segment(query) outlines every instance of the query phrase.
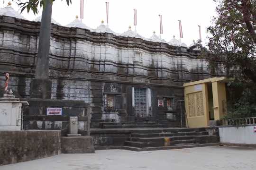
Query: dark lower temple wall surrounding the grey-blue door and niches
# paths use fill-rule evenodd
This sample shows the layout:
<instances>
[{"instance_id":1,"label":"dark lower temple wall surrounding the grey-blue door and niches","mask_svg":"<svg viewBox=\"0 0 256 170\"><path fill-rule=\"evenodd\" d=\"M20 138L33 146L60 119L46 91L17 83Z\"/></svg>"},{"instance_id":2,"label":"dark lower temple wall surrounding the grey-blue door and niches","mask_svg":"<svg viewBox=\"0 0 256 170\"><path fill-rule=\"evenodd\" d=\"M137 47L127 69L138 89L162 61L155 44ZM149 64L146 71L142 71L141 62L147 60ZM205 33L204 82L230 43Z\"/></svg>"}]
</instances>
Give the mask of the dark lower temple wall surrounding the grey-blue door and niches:
<instances>
[{"instance_id":1,"label":"dark lower temple wall surrounding the grey-blue door and niches","mask_svg":"<svg viewBox=\"0 0 256 170\"><path fill-rule=\"evenodd\" d=\"M110 85L117 86L117 92L109 92ZM132 106L132 87L149 88L151 90L152 116L140 118L135 116L134 107ZM117 123L147 123L172 124L174 127L180 125L180 103L183 100L183 87L167 85L145 85L143 83L108 83L91 81L91 98L92 98L92 117L91 127L99 127L100 122L117 122ZM118 97L116 110L106 110L102 98L104 94L115 94ZM174 99L172 111L167 110L166 98ZM164 100L164 107L158 107L158 99ZM183 105L182 105L183 107ZM182 108L184 111L184 108ZM118 117L110 118L110 114L118 114ZM174 119L167 119L166 113L173 113Z\"/></svg>"}]
</instances>

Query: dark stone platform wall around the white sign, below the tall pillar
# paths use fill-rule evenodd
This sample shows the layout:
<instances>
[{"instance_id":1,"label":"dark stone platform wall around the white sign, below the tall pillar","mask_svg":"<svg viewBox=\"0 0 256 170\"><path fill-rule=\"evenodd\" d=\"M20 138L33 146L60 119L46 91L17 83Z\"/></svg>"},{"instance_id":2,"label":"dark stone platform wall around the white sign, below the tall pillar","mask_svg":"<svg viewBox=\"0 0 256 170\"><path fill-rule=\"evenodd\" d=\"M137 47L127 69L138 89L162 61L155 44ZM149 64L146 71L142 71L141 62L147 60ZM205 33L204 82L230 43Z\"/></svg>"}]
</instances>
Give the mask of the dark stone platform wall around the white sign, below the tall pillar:
<instances>
[{"instance_id":1,"label":"dark stone platform wall around the white sign, below the tall pillar","mask_svg":"<svg viewBox=\"0 0 256 170\"><path fill-rule=\"evenodd\" d=\"M68 133L69 117L78 117L78 133L88 134L89 104L83 101L52 100L52 99L21 99L27 101L23 111L23 129L61 130L61 135ZM62 115L46 115L47 108L62 108ZM89 117L89 118L88 118Z\"/></svg>"}]
</instances>

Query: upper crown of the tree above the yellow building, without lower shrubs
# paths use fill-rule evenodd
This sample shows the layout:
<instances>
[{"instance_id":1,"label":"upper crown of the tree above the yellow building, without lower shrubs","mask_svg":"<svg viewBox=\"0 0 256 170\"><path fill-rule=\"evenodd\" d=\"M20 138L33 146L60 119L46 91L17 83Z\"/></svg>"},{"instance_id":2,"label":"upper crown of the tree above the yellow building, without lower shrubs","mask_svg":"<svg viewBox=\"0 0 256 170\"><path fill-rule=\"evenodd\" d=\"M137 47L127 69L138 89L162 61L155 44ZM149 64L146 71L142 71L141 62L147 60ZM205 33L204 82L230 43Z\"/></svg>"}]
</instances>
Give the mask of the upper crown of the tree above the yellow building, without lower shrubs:
<instances>
[{"instance_id":1,"label":"upper crown of the tree above the yellow building, without lower shrubs","mask_svg":"<svg viewBox=\"0 0 256 170\"><path fill-rule=\"evenodd\" d=\"M256 82L256 0L214 1L218 17L208 27L211 36L202 57L210 66L220 63L229 77Z\"/></svg>"}]
</instances>

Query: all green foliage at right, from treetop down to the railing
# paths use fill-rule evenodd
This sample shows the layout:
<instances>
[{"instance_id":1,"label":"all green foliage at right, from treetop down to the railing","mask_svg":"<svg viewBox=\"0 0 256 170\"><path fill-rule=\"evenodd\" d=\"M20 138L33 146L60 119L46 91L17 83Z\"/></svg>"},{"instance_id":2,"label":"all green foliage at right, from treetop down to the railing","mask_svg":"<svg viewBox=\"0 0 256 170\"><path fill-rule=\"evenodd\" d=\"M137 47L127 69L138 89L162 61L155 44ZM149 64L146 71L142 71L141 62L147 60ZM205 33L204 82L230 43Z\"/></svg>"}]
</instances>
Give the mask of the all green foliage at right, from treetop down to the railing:
<instances>
[{"instance_id":1,"label":"all green foliage at right, from treetop down to the railing","mask_svg":"<svg viewBox=\"0 0 256 170\"><path fill-rule=\"evenodd\" d=\"M201 58L211 73L219 67L235 80L228 84L226 119L256 116L256 0L214 0L217 17L212 19L208 49Z\"/></svg>"}]
</instances>

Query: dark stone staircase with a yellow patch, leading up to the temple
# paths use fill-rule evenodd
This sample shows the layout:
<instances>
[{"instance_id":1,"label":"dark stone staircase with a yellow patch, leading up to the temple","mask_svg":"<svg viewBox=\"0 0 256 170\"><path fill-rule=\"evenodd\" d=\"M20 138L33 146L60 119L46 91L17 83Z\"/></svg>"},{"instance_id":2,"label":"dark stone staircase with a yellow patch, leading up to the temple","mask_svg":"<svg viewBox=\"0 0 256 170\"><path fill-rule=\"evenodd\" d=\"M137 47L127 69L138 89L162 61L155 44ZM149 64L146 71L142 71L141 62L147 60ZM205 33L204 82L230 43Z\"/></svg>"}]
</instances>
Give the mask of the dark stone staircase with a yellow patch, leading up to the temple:
<instances>
[{"instance_id":1,"label":"dark stone staircase with a yellow patch, leading up to the temple","mask_svg":"<svg viewBox=\"0 0 256 170\"><path fill-rule=\"evenodd\" d=\"M207 128L163 128L132 133L122 149L149 151L219 144L218 132Z\"/></svg>"}]
</instances>

